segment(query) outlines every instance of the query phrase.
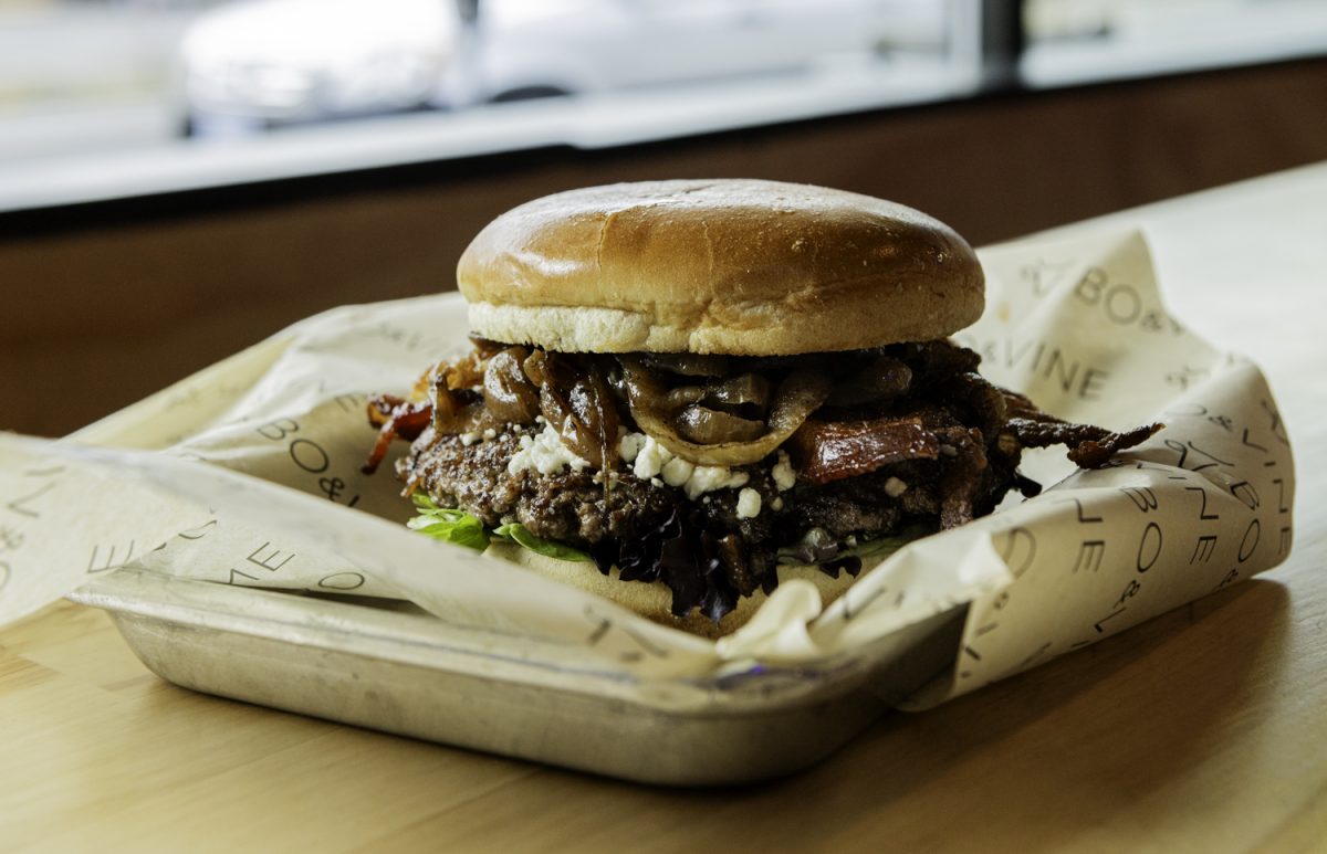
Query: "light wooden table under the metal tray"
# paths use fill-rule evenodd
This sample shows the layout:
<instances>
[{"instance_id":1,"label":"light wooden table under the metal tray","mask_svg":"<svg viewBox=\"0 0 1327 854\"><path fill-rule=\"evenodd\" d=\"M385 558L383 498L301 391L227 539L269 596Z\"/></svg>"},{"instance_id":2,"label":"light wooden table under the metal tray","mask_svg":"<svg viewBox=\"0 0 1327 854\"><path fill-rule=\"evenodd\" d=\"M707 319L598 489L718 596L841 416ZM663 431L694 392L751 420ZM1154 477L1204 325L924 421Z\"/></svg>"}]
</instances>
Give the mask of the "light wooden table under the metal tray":
<instances>
[{"instance_id":1,"label":"light wooden table under the metal tray","mask_svg":"<svg viewBox=\"0 0 1327 854\"><path fill-rule=\"evenodd\" d=\"M1327 164L1107 219L1144 225L1176 314L1270 378L1299 472L1270 574L892 715L799 777L709 792L192 694L61 603L0 633L0 849L1320 849Z\"/></svg>"}]
</instances>

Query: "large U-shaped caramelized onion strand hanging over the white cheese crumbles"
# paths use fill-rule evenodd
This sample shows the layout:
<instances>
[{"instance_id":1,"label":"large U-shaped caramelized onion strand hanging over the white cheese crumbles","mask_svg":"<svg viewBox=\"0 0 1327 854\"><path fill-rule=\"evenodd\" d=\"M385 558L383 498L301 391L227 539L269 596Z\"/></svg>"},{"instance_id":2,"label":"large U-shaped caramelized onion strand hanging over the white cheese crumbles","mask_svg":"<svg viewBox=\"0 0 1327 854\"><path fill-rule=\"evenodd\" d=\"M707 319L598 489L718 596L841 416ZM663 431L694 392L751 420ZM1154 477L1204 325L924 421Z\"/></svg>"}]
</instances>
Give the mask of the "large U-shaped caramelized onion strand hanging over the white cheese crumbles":
<instances>
[{"instance_id":1,"label":"large U-shaped caramelized onion strand hanging over the white cheese crumbles","mask_svg":"<svg viewBox=\"0 0 1327 854\"><path fill-rule=\"evenodd\" d=\"M824 403L829 393L829 379L824 374L794 371L774 395L762 436L703 444L678 435L670 423L664 383L644 362L633 357L624 357L621 362L626 400L637 427L677 456L702 465L744 465L764 459Z\"/></svg>"}]
</instances>

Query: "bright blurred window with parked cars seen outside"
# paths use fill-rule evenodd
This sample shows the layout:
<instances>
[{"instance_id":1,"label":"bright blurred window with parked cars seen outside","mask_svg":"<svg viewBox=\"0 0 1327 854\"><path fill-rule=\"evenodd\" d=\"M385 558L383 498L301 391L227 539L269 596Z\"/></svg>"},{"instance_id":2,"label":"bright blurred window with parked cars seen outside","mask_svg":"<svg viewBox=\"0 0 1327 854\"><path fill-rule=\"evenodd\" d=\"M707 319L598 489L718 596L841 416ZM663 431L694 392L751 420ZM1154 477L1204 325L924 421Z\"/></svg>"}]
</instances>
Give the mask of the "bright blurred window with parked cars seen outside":
<instances>
[{"instance_id":1,"label":"bright blurred window with parked cars seen outside","mask_svg":"<svg viewBox=\"0 0 1327 854\"><path fill-rule=\"evenodd\" d=\"M1324 48L1318 0L25 0L0 211Z\"/></svg>"}]
</instances>

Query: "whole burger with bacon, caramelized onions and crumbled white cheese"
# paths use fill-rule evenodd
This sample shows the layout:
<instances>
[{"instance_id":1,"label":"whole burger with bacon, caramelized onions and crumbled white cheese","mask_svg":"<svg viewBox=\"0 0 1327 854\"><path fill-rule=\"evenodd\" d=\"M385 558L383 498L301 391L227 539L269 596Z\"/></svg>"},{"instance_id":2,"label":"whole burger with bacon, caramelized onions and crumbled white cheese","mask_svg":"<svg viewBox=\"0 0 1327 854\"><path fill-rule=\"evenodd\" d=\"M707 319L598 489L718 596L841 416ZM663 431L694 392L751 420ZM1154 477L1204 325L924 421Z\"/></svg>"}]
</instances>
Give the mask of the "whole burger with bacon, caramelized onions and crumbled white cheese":
<instances>
[{"instance_id":1,"label":"whole burger with bacon, caramelized onions and crumbled white cheese","mask_svg":"<svg viewBox=\"0 0 1327 854\"><path fill-rule=\"evenodd\" d=\"M653 619L731 631L790 577L832 598L901 541L991 512L1023 448L1099 467L1115 434L1040 412L947 337L985 308L945 224L767 180L551 195L456 268L470 349L378 440L423 533L494 549Z\"/></svg>"}]
</instances>

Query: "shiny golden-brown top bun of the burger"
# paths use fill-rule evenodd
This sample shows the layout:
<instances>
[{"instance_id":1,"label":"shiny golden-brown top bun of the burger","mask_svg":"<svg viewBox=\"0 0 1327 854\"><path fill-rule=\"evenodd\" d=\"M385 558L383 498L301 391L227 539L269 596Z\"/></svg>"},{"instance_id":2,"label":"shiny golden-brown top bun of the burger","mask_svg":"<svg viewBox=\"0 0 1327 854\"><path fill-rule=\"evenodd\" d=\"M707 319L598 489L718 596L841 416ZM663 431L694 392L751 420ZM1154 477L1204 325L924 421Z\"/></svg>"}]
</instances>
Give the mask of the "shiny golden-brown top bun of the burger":
<instances>
[{"instance_id":1,"label":"shiny golden-brown top bun of the burger","mask_svg":"<svg viewBox=\"0 0 1327 854\"><path fill-rule=\"evenodd\" d=\"M945 338L982 269L943 223L770 180L560 192L503 213L456 268L471 330L589 353L788 355Z\"/></svg>"}]
</instances>

